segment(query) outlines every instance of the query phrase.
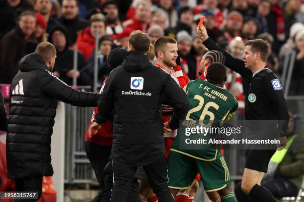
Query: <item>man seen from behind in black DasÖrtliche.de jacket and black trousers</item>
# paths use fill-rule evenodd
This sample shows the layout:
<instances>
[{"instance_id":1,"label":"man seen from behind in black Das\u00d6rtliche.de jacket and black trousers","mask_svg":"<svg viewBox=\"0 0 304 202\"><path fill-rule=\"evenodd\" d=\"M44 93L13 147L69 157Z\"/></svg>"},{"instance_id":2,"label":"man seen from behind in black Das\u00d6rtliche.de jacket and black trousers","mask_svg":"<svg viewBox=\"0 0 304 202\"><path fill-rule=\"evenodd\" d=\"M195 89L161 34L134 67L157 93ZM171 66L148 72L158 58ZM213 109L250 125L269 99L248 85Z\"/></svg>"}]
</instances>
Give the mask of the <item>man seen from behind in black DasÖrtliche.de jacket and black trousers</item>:
<instances>
[{"instance_id":1,"label":"man seen from behind in black Das\u00d6rtliche.de jacket and black trousers","mask_svg":"<svg viewBox=\"0 0 304 202\"><path fill-rule=\"evenodd\" d=\"M174 109L169 121L174 130L186 115L188 101L174 79L150 63L149 48L147 34L131 33L128 54L122 65L110 73L98 101L96 123L90 126L98 128L97 123L109 119L113 111L111 202L126 202L135 171L140 166L147 173L158 202L174 202L168 188L160 108L164 96L166 104Z\"/></svg>"}]
</instances>

